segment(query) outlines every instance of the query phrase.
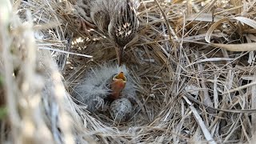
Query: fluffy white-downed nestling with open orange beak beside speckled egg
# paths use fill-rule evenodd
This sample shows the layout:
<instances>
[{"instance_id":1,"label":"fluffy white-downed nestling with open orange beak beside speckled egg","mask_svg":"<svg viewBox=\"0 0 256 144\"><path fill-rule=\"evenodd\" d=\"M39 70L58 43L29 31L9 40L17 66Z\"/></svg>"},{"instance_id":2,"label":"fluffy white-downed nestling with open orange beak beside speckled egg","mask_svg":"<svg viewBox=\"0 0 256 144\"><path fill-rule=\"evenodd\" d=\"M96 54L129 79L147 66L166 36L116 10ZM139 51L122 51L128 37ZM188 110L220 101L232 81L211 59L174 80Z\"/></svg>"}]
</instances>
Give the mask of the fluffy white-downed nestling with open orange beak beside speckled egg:
<instances>
[{"instance_id":1,"label":"fluffy white-downed nestling with open orange beak beside speckled egg","mask_svg":"<svg viewBox=\"0 0 256 144\"><path fill-rule=\"evenodd\" d=\"M74 98L86 104L87 110L101 110L106 99L136 97L133 78L126 66L102 65L86 73L81 84L74 88Z\"/></svg>"}]
</instances>

